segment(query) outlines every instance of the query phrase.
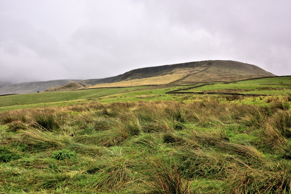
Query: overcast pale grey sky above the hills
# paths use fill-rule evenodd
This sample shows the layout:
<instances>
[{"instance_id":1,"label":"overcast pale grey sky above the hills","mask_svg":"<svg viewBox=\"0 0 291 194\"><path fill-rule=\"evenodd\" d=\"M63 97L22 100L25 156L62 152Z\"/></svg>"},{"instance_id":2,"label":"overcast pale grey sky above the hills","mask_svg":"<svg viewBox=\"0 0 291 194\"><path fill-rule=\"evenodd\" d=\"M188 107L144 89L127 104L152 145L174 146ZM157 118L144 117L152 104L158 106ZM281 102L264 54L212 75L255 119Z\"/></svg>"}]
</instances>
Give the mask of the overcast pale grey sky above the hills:
<instances>
[{"instance_id":1,"label":"overcast pale grey sky above the hills","mask_svg":"<svg viewBox=\"0 0 291 194\"><path fill-rule=\"evenodd\" d=\"M200 60L291 75L290 34L290 0L0 0L0 82Z\"/></svg>"}]
</instances>

